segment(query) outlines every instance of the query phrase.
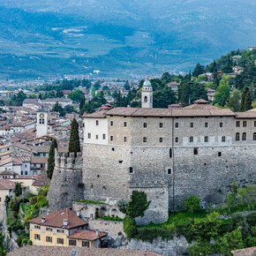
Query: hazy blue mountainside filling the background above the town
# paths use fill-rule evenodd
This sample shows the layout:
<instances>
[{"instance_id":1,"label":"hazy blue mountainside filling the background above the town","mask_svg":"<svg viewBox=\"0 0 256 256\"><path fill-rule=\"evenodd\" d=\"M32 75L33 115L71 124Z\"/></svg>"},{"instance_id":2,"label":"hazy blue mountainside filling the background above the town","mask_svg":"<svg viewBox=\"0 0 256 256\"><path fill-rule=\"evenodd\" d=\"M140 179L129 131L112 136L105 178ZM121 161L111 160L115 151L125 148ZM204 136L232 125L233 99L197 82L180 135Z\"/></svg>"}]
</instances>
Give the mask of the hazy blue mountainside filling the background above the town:
<instances>
[{"instance_id":1,"label":"hazy blue mountainside filling the background above the town","mask_svg":"<svg viewBox=\"0 0 256 256\"><path fill-rule=\"evenodd\" d=\"M184 71L256 41L254 0L0 0L0 76Z\"/></svg>"}]
</instances>

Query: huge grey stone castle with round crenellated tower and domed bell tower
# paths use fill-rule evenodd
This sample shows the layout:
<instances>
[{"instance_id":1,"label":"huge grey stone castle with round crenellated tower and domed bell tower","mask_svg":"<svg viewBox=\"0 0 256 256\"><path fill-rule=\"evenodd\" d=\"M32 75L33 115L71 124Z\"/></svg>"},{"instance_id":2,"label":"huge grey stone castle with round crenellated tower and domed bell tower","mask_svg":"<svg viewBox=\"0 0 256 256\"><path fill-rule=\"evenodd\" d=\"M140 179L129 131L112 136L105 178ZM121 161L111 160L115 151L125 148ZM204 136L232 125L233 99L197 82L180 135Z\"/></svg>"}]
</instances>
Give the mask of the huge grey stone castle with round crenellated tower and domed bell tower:
<instances>
[{"instance_id":1,"label":"huge grey stone castle with round crenellated tower and domed bell tower","mask_svg":"<svg viewBox=\"0 0 256 256\"><path fill-rule=\"evenodd\" d=\"M79 199L115 205L138 190L151 204L137 222L164 222L191 195L203 206L220 203L233 180L240 186L255 182L256 109L234 113L203 100L183 109L153 109L149 80L141 94L142 108L84 115L79 165L56 154L52 210Z\"/></svg>"}]
</instances>

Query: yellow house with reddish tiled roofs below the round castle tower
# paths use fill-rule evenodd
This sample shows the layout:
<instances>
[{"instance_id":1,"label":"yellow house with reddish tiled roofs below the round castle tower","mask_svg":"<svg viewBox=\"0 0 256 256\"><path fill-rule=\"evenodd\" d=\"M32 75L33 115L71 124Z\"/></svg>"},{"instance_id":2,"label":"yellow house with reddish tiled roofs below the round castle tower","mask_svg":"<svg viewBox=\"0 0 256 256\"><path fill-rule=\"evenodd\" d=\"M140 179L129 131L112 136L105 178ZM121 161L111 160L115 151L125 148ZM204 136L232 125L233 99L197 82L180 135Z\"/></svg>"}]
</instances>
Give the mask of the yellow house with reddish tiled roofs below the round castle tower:
<instances>
[{"instance_id":1,"label":"yellow house with reddish tiled roofs below the round castle tower","mask_svg":"<svg viewBox=\"0 0 256 256\"><path fill-rule=\"evenodd\" d=\"M33 245L101 247L106 233L87 230L88 223L65 208L28 221Z\"/></svg>"}]
</instances>

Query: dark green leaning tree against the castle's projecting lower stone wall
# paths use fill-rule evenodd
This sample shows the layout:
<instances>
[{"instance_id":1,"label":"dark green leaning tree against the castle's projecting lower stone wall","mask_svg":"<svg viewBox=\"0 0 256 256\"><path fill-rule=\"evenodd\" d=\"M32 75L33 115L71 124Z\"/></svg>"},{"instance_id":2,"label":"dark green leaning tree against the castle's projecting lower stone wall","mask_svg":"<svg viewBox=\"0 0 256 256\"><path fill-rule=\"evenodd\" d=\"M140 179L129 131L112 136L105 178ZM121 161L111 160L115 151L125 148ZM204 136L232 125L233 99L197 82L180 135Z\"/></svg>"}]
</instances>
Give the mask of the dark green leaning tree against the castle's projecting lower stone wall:
<instances>
[{"instance_id":1,"label":"dark green leaning tree against the castle's projecting lower stone wall","mask_svg":"<svg viewBox=\"0 0 256 256\"><path fill-rule=\"evenodd\" d=\"M132 218L143 217L151 201L147 201L146 192L132 191L131 200L128 202L126 214Z\"/></svg>"}]
</instances>

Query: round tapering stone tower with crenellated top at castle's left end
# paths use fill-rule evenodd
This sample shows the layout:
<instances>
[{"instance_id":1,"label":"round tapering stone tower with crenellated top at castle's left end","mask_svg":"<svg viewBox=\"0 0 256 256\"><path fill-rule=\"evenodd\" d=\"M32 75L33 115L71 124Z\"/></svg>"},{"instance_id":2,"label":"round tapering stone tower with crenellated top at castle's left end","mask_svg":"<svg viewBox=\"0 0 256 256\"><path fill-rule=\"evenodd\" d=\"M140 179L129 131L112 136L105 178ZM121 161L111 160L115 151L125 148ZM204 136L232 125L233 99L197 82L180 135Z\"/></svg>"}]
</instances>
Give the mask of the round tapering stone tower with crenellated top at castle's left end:
<instances>
[{"instance_id":1,"label":"round tapering stone tower with crenellated top at castle's left end","mask_svg":"<svg viewBox=\"0 0 256 256\"><path fill-rule=\"evenodd\" d=\"M75 158L73 153L68 156L56 151L55 169L47 195L49 213L72 207L73 200L83 199L82 162L81 153Z\"/></svg>"}]
</instances>

